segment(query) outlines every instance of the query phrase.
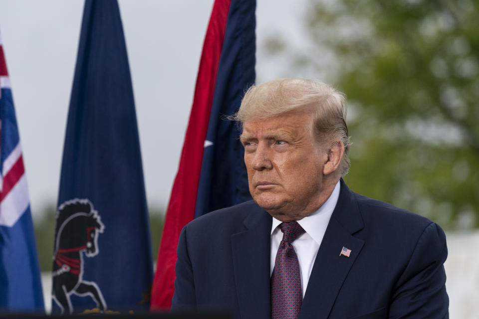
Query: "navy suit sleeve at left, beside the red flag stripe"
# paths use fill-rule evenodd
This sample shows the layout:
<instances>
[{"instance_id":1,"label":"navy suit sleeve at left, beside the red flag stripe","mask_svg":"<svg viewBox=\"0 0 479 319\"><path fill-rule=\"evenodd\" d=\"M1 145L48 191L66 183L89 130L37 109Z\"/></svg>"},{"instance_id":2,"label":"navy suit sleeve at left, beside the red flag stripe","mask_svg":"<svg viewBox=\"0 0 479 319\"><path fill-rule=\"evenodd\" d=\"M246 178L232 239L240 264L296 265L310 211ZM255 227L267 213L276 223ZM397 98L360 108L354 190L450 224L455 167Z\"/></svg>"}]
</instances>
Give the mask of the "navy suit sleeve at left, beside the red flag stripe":
<instances>
[{"instance_id":1,"label":"navy suit sleeve at left, beside the red flag stripe","mask_svg":"<svg viewBox=\"0 0 479 319\"><path fill-rule=\"evenodd\" d=\"M196 293L193 267L188 254L187 226L180 233L178 241L178 259L175 266L175 294L171 301L171 310L196 310Z\"/></svg>"}]
</instances>

